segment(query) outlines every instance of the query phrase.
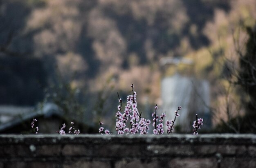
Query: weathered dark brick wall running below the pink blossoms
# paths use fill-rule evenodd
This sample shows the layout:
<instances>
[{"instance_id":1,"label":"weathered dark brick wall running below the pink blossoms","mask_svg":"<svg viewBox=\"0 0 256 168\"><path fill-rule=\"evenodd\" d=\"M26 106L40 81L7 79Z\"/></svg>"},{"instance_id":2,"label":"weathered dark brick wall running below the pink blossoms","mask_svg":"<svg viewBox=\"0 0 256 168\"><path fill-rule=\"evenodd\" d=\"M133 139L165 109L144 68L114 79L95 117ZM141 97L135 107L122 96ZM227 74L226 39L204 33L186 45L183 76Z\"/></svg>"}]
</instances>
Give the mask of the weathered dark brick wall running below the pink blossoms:
<instances>
[{"instance_id":1,"label":"weathered dark brick wall running below the pink blossoms","mask_svg":"<svg viewBox=\"0 0 256 168\"><path fill-rule=\"evenodd\" d=\"M86 167L256 168L256 135L0 135L0 168Z\"/></svg>"}]
</instances>

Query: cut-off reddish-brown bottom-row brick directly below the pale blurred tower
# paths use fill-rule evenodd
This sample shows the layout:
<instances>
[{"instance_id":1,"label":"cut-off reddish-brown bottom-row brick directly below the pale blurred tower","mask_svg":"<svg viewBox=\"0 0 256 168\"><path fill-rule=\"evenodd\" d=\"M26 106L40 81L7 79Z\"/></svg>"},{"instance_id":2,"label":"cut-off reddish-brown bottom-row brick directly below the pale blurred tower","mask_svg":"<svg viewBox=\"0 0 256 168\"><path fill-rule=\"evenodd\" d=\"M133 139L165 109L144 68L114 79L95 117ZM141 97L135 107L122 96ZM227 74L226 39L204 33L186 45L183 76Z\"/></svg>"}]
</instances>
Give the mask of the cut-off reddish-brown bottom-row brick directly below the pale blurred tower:
<instances>
[{"instance_id":1,"label":"cut-off reddish-brown bottom-row brick directly below the pale blurred tower","mask_svg":"<svg viewBox=\"0 0 256 168\"><path fill-rule=\"evenodd\" d=\"M169 161L171 168L216 168L215 158L175 158Z\"/></svg>"}]
</instances>

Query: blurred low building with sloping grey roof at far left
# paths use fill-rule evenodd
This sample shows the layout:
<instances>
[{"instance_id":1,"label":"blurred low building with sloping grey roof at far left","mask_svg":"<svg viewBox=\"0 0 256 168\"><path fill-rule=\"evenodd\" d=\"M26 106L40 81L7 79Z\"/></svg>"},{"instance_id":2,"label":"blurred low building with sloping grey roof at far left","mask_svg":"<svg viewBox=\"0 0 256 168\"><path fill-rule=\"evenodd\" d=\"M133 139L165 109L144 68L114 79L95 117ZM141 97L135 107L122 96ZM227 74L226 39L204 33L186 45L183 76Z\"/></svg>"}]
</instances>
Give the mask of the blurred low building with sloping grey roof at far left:
<instances>
[{"instance_id":1,"label":"blurred low building with sloping grey roof at far left","mask_svg":"<svg viewBox=\"0 0 256 168\"><path fill-rule=\"evenodd\" d=\"M67 125L66 130L71 126L73 119L63 115L58 106L53 103L46 103L42 108L0 106L0 133L4 134L33 134L31 129L32 120L37 119L38 133L56 134L56 131L63 123ZM81 122L75 122L75 128L81 132L93 132L93 128Z\"/></svg>"}]
</instances>

